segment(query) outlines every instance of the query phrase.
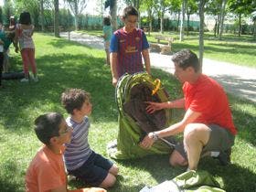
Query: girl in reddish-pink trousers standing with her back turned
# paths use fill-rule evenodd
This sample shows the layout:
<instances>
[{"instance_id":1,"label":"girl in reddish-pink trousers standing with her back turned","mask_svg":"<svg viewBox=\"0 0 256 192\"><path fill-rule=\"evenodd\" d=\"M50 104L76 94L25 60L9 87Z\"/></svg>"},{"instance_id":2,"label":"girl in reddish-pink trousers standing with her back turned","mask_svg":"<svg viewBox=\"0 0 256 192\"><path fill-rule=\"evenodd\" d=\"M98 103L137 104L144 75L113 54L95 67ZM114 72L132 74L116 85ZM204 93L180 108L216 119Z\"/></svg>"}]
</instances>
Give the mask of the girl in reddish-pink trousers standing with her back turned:
<instances>
[{"instance_id":1,"label":"girl in reddish-pink trousers standing with her back turned","mask_svg":"<svg viewBox=\"0 0 256 192\"><path fill-rule=\"evenodd\" d=\"M37 79L37 64L35 61L35 45L33 41L34 26L31 24L31 17L28 12L23 12L19 16L19 24L16 26L16 37L18 38L19 48L23 61L23 69L25 78L21 82L28 82L29 71L28 65L30 64L33 72L32 80L35 82Z\"/></svg>"}]
</instances>

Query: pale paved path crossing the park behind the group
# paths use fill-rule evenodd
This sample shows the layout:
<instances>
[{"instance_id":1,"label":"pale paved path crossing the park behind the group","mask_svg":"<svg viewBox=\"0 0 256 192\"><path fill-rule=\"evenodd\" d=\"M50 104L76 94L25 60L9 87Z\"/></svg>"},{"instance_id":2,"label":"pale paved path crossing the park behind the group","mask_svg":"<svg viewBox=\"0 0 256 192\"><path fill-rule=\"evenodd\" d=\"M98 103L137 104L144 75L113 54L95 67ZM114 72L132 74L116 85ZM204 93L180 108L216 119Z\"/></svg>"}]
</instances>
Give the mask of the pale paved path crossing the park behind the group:
<instances>
[{"instance_id":1,"label":"pale paved path crossing the park behind the group","mask_svg":"<svg viewBox=\"0 0 256 192\"><path fill-rule=\"evenodd\" d=\"M60 36L68 38L68 33L61 33ZM78 41L92 48L104 48L103 39L101 37L71 32L70 40ZM152 67L163 69L166 72L174 73L174 65L171 61L171 57L172 56L158 53L150 53L151 65ZM204 59L203 63L203 73L218 80L226 91L256 102L255 68L241 67L212 59Z\"/></svg>"}]
</instances>

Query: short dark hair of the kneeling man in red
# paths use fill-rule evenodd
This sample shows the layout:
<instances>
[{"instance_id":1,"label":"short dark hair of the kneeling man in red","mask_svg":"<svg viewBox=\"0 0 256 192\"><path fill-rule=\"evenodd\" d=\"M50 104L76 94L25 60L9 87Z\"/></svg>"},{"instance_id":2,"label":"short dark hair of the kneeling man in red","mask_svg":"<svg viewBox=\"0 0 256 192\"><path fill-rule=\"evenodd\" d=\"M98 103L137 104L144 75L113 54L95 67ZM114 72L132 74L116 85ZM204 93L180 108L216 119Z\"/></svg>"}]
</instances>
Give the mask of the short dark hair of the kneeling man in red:
<instances>
[{"instance_id":1,"label":"short dark hair of the kneeling man in red","mask_svg":"<svg viewBox=\"0 0 256 192\"><path fill-rule=\"evenodd\" d=\"M182 69L192 67L197 72L200 69L197 55L189 49L182 49L172 57L173 62Z\"/></svg>"}]
</instances>

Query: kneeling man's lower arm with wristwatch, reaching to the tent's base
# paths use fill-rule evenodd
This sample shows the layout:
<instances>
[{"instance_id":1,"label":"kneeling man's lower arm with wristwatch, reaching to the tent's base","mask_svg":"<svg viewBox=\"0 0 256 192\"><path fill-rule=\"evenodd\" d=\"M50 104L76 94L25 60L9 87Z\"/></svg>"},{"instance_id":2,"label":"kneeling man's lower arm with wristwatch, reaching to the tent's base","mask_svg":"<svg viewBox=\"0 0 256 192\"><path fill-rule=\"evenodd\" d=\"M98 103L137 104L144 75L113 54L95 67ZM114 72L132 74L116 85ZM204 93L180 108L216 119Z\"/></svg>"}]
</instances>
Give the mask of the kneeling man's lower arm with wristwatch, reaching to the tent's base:
<instances>
[{"instance_id":1,"label":"kneeling man's lower arm with wristwatch, reaching to the tent's base","mask_svg":"<svg viewBox=\"0 0 256 192\"><path fill-rule=\"evenodd\" d=\"M148 133L144 137L144 140L140 143L140 146L143 148L150 148L155 142L155 137L163 138L166 136L176 135L177 133L182 133L186 125L194 122L200 115L201 112L193 112L192 110L188 109L181 122L175 123L164 130Z\"/></svg>"}]
</instances>

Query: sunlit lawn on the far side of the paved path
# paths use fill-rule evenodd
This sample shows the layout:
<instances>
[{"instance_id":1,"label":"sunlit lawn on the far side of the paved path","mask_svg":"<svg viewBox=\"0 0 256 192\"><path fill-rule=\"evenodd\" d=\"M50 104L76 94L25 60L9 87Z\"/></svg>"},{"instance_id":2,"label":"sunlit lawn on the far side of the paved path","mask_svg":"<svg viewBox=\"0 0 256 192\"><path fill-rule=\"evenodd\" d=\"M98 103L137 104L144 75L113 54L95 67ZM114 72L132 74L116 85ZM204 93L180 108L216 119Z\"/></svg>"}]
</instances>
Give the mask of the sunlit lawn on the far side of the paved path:
<instances>
[{"instance_id":1,"label":"sunlit lawn on the far side of the paved path","mask_svg":"<svg viewBox=\"0 0 256 192\"><path fill-rule=\"evenodd\" d=\"M102 33L99 30L79 32L97 36ZM160 33L153 32L148 36L148 33L146 33L148 41L154 43L157 41L155 35L159 34ZM182 48L189 48L196 53L198 52L199 44L197 32L190 32L189 36L185 35L184 41L182 42L179 41L179 34L176 32L165 32L164 36L174 37L175 41L172 44L173 52L177 52ZM205 58L256 68L256 42L252 41L251 36L243 35L238 37L232 34L224 34L222 40L219 40L218 37L214 37L212 33L208 32L205 34L204 40ZM167 44L165 41L161 41L161 43Z\"/></svg>"}]
</instances>

